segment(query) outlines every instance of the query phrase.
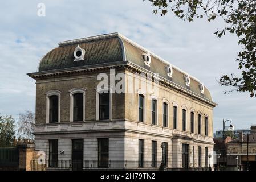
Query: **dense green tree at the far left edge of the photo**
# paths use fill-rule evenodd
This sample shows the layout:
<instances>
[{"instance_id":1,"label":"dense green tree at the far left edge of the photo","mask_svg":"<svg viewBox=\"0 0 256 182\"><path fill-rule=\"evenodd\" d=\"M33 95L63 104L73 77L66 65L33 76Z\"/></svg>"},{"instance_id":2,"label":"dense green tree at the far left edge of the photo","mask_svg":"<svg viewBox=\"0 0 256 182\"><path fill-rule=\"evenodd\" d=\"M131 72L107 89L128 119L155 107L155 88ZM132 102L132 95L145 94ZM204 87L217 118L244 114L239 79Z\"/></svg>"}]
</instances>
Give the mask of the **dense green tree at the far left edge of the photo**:
<instances>
[{"instance_id":1,"label":"dense green tree at the far left edge of the photo","mask_svg":"<svg viewBox=\"0 0 256 182\"><path fill-rule=\"evenodd\" d=\"M13 145L15 134L15 119L10 116L0 116L0 147L10 147Z\"/></svg>"}]
</instances>

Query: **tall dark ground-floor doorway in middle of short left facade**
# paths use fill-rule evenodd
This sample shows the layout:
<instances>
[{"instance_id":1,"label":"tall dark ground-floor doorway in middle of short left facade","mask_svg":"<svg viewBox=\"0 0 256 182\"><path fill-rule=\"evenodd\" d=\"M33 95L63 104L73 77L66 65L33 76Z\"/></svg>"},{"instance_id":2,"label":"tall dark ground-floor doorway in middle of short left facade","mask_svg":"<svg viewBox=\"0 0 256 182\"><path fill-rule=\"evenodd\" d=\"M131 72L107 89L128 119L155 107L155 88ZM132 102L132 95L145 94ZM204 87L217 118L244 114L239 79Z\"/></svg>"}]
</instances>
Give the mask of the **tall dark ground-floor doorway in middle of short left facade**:
<instances>
[{"instance_id":1,"label":"tall dark ground-floor doorway in middle of short left facade","mask_svg":"<svg viewBox=\"0 0 256 182\"><path fill-rule=\"evenodd\" d=\"M72 171L83 170L84 140L72 139Z\"/></svg>"}]
</instances>

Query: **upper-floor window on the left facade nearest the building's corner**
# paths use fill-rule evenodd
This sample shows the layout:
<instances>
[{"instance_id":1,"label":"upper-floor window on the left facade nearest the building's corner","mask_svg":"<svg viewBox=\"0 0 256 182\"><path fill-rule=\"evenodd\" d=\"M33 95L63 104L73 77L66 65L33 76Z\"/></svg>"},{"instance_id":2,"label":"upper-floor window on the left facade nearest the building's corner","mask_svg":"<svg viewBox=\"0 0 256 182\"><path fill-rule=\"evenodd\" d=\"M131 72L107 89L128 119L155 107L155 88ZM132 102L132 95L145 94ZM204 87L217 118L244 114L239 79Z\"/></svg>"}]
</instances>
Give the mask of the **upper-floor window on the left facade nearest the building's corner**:
<instances>
[{"instance_id":1,"label":"upper-floor window on the left facade nearest the building's corner","mask_svg":"<svg viewBox=\"0 0 256 182\"><path fill-rule=\"evenodd\" d=\"M99 94L99 119L109 119L109 93Z\"/></svg>"}]
</instances>

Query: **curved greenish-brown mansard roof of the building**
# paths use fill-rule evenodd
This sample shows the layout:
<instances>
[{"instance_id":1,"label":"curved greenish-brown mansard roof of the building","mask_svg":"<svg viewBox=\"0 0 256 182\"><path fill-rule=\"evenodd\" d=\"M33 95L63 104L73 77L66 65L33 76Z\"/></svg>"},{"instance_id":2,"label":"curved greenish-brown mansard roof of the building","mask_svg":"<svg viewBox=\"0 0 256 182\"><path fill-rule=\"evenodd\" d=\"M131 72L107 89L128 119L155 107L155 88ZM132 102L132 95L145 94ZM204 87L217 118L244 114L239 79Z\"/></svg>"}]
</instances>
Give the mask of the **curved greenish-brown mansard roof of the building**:
<instances>
[{"instance_id":1,"label":"curved greenish-brown mansard roof of the building","mask_svg":"<svg viewBox=\"0 0 256 182\"><path fill-rule=\"evenodd\" d=\"M78 45L85 51L84 60L74 61L74 51ZM205 88L204 93L201 93L201 83L197 78L190 76L190 86L186 86L185 77L188 76L188 73L181 71L181 69L172 65L172 78L168 77L166 69L169 67L170 63L152 52L150 52L150 67L147 67L142 56L143 53L147 52L147 49L119 33L68 40L60 42L59 47L52 49L41 59L38 72L128 61L153 73L158 73L159 76L212 101L208 89Z\"/></svg>"}]
</instances>

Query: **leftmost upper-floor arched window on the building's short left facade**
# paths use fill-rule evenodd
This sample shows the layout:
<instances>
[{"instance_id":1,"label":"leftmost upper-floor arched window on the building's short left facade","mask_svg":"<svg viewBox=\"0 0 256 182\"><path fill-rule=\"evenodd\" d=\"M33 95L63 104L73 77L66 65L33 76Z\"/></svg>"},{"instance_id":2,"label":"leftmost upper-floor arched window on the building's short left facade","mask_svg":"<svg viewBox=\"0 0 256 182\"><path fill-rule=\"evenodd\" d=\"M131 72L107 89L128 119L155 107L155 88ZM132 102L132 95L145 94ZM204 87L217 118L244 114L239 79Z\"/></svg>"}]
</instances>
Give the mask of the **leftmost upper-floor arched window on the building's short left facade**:
<instances>
[{"instance_id":1,"label":"leftmost upper-floor arched window on the building's short left facade","mask_svg":"<svg viewBox=\"0 0 256 182\"><path fill-rule=\"evenodd\" d=\"M53 95L49 97L49 122L58 122L59 118L59 96Z\"/></svg>"}]
</instances>

